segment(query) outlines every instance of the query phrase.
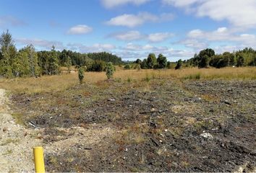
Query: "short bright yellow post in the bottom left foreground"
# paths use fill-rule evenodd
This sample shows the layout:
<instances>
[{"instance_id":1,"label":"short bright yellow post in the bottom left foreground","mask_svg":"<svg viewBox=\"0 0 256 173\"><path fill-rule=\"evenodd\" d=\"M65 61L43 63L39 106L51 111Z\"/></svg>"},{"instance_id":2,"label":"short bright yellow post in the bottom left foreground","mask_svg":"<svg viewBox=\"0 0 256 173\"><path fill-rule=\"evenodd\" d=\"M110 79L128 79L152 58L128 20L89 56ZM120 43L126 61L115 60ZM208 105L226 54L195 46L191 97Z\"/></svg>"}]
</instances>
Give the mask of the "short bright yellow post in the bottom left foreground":
<instances>
[{"instance_id":1,"label":"short bright yellow post in the bottom left foreground","mask_svg":"<svg viewBox=\"0 0 256 173\"><path fill-rule=\"evenodd\" d=\"M43 147L34 147L34 162L35 162L35 172L45 173L44 160L43 160Z\"/></svg>"}]
</instances>

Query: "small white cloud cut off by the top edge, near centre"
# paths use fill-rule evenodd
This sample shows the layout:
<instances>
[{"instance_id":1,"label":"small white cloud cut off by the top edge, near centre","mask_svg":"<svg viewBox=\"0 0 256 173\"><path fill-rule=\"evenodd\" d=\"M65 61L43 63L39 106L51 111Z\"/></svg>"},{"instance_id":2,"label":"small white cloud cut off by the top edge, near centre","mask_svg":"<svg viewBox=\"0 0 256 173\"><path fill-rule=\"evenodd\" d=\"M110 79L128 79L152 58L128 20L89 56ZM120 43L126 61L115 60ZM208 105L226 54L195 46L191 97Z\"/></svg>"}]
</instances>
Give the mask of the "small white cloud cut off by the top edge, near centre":
<instances>
[{"instance_id":1,"label":"small white cloud cut off by the top edge, near centre","mask_svg":"<svg viewBox=\"0 0 256 173\"><path fill-rule=\"evenodd\" d=\"M114 8L116 6L121 6L124 4L135 4L135 5L141 5L145 4L150 0L101 0L103 6L106 8Z\"/></svg>"}]
</instances>

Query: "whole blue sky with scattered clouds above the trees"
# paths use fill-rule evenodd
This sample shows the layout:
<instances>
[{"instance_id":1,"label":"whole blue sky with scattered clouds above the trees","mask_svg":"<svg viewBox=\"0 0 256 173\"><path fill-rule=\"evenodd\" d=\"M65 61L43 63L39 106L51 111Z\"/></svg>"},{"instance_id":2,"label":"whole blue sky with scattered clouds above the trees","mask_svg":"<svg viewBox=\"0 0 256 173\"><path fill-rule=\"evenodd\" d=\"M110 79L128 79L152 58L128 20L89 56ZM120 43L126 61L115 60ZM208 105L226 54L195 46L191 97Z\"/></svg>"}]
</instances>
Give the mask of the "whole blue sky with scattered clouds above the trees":
<instances>
[{"instance_id":1,"label":"whole blue sky with scattered clouds above the trees","mask_svg":"<svg viewBox=\"0 0 256 173\"><path fill-rule=\"evenodd\" d=\"M204 48L256 49L256 0L0 0L7 29L17 48L177 61Z\"/></svg>"}]
</instances>

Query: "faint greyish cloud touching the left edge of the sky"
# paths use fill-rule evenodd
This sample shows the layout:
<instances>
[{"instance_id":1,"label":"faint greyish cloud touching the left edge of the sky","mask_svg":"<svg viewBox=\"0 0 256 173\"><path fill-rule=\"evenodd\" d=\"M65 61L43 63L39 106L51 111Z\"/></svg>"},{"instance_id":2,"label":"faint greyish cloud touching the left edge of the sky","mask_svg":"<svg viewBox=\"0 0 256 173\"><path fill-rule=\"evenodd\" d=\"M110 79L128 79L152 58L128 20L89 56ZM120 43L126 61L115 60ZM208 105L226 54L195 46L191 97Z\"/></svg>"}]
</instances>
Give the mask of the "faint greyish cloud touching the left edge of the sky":
<instances>
[{"instance_id":1,"label":"faint greyish cloud touching the left edge of the sky","mask_svg":"<svg viewBox=\"0 0 256 173\"><path fill-rule=\"evenodd\" d=\"M20 27L23 25L26 25L26 23L15 17L0 16L0 27Z\"/></svg>"}]
</instances>

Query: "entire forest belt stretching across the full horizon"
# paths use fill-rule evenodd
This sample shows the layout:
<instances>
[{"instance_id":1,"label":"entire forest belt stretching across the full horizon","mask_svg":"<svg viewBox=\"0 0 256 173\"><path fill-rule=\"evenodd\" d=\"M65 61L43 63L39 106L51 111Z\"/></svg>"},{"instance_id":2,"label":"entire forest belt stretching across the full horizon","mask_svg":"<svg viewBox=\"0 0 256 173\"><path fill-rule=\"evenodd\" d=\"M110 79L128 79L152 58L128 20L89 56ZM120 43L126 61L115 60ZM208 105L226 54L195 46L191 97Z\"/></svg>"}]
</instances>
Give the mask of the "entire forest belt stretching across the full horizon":
<instances>
[{"instance_id":1,"label":"entire forest belt stretching across the full horizon","mask_svg":"<svg viewBox=\"0 0 256 173\"><path fill-rule=\"evenodd\" d=\"M33 45L17 50L12 35L7 30L0 36L0 75L11 77L56 75L61 73L61 67L71 71L71 67L84 67L86 71L105 71L106 63L124 65L124 69L159 69L182 67L223 68L227 66L256 66L256 50L244 48L233 53L216 54L213 49L207 48L195 54L188 60L176 62L167 61L166 56L159 54L156 58L150 53L144 60L124 62L116 55L107 52L77 53L72 50L36 51Z\"/></svg>"}]
</instances>

